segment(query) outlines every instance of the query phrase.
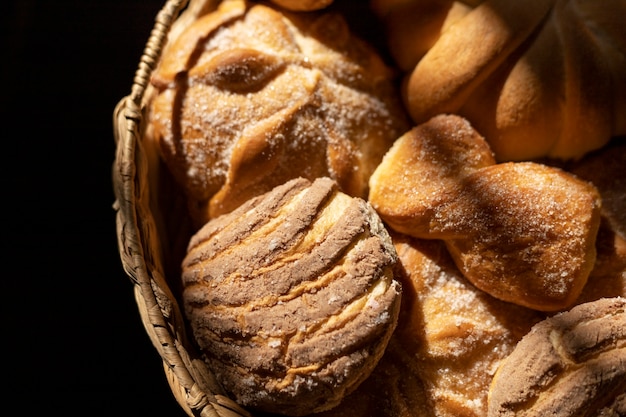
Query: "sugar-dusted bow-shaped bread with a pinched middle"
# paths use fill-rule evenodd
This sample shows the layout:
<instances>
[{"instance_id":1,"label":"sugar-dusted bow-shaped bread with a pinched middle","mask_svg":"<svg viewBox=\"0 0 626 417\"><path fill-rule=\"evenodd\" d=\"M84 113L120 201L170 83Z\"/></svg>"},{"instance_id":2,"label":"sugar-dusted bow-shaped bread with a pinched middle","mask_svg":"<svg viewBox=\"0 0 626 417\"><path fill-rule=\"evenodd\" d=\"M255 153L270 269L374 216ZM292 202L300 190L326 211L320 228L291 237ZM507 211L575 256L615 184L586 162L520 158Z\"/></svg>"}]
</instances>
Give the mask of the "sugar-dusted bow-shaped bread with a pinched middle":
<instances>
[{"instance_id":1,"label":"sugar-dusted bow-shaped bread with a pinched middle","mask_svg":"<svg viewBox=\"0 0 626 417\"><path fill-rule=\"evenodd\" d=\"M493 163L459 116L400 137L370 178L369 200L396 231L444 240L478 288L529 308L570 307L596 258L597 189L547 165Z\"/></svg>"}]
</instances>

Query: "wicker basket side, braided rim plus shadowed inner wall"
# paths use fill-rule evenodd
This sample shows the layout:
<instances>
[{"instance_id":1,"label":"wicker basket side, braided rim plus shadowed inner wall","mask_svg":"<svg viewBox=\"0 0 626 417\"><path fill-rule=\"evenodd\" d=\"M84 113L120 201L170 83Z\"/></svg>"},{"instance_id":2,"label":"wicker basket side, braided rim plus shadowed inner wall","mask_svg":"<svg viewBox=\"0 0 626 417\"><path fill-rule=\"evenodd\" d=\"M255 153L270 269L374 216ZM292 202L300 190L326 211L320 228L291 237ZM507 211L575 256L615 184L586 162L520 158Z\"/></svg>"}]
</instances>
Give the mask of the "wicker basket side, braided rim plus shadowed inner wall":
<instances>
[{"instance_id":1,"label":"wicker basket side, braided rim plus shadowed inner wall","mask_svg":"<svg viewBox=\"0 0 626 417\"><path fill-rule=\"evenodd\" d=\"M166 216L160 212L163 206L155 204L159 193L163 194L164 168L153 147L144 140L149 79L168 35L183 27L185 19L194 19L215 7L215 0L168 0L157 15L131 92L114 111L114 208L121 261L134 284L142 322L163 360L176 400L189 416L242 417L250 414L224 394L186 336L183 313L175 296L176 284L168 281L166 273L168 262L176 262L175 257L168 259L176 246L168 242L175 237L164 226ZM167 199L177 200L172 194Z\"/></svg>"}]
</instances>

